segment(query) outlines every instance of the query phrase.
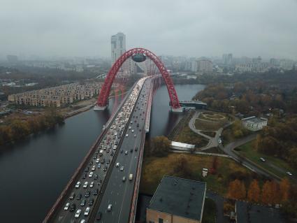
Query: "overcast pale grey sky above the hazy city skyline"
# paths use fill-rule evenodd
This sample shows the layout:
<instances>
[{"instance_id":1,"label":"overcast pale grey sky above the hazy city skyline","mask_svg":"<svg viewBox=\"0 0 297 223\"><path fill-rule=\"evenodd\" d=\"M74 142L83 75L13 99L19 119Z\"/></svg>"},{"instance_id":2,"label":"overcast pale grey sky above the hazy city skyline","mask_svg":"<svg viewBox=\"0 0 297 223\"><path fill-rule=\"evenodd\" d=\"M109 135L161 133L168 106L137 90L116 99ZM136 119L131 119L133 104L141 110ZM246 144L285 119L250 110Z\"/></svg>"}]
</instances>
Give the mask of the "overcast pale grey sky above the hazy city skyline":
<instances>
[{"instance_id":1,"label":"overcast pale grey sky above the hazy city skyline","mask_svg":"<svg viewBox=\"0 0 297 223\"><path fill-rule=\"evenodd\" d=\"M0 56L110 57L110 36L157 55L297 59L297 0L1 0Z\"/></svg>"}]
</instances>

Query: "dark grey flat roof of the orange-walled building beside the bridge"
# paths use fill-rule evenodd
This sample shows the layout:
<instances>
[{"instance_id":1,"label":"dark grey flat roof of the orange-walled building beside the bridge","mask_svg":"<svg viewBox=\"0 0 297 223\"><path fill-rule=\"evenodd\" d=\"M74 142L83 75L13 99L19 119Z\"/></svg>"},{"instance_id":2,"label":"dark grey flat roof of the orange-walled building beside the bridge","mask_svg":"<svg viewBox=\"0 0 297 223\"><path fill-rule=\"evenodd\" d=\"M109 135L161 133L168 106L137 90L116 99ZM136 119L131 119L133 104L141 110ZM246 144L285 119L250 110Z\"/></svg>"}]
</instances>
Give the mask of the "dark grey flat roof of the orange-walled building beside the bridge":
<instances>
[{"instance_id":1,"label":"dark grey flat roof of the orange-walled building beside the bridge","mask_svg":"<svg viewBox=\"0 0 297 223\"><path fill-rule=\"evenodd\" d=\"M206 183L165 175L148 208L201 220Z\"/></svg>"}]
</instances>

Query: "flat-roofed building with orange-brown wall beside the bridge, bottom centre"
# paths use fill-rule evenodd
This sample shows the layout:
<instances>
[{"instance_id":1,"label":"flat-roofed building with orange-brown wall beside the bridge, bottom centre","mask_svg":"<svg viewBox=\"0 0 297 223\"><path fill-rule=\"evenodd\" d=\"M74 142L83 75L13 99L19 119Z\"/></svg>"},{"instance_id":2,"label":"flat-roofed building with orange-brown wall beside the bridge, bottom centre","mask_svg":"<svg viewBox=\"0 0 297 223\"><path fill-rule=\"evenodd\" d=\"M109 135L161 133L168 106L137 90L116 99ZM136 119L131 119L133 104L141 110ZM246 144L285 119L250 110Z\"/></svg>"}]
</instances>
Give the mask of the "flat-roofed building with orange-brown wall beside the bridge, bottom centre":
<instances>
[{"instance_id":1,"label":"flat-roofed building with orange-brown wall beside the bridge, bottom centre","mask_svg":"<svg viewBox=\"0 0 297 223\"><path fill-rule=\"evenodd\" d=\"M147 207L147 223L201 223L206 183L165 175Z\"/></svg>"}]
</instances>

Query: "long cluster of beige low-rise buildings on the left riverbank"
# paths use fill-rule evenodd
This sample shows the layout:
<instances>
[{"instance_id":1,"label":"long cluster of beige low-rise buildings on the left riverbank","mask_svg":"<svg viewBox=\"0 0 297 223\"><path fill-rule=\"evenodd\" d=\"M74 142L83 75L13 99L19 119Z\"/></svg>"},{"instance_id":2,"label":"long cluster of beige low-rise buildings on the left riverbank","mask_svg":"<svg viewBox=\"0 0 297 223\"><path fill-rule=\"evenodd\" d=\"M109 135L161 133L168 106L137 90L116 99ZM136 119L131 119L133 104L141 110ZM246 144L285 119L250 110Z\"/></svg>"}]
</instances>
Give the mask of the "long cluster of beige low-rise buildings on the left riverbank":
<instances>
[{"instance_id":1,"label":"long cluster of beige low-rise buildings on the left riverbank","mask_svg":"<svg viewBox=\"0 0 297 223\"><path fill-rule=\"evenodd\" d=\"M58 87L48 87L20 94L10 94L8 101L18 105L38 107L60 107L65 104L90 99L99 94L101 82L88 82L85 84L71 83Z\"/></svg>"}]
</instances>

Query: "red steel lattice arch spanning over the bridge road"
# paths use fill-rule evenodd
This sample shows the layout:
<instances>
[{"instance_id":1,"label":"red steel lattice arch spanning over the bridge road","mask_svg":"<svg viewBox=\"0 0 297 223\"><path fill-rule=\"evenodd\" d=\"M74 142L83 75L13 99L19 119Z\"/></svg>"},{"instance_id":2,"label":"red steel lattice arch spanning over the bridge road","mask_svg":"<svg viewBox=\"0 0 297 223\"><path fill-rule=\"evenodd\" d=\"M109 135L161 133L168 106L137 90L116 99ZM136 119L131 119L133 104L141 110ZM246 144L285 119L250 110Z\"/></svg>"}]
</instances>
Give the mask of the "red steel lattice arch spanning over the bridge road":
<instances>
[{"instance_id":1,"label":"red steel lattice arch spanning over the bridge road","mask_svg":"<svg viewBox=\"0 0 297 223\"><path fill-rule=\"evenodd\" d=\"M149 57L154 62L154 64L156 64L161 75L165 80L169 98L170 98L170 104L172 108L180 108L180 102L178 101L178 94L175 91L173 81L168 71L166 70L164 64L156 55L154 55L153 52L150 52L150 50L146 50L144 48L133 48L131 50L128 50L124 52L124 54L121 57L119 57L119 59L117 59L115 64L113 64L110 71L108 72L108 75L106 75L106 79L104 80L103 86L101 87L101 91L98 96L97 106L103 107L107 105L108 96L110 94L110 88L111 88L111 85L113 85L113 80L115 80L115 75L117 75L117 71L119 71L119 68L126 61L126 59L138 53L144 54L146 57Z\"/></svg>"}]
</instances>

